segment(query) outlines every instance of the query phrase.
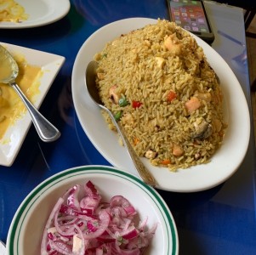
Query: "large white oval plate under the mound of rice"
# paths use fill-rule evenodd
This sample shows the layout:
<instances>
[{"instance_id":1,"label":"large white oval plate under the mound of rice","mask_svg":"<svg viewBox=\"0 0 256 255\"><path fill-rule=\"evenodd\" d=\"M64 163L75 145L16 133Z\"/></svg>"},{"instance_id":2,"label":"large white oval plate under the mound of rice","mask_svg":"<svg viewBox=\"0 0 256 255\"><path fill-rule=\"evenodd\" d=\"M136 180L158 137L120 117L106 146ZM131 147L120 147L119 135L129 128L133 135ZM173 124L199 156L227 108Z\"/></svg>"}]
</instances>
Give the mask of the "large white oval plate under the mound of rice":
<instances>
[{"instance_id":1,"label":"large white oval plate under the mound of rice","mask_svg":"<svg viewBox=\"0 0 256 255\"><path fill-rule=\"evenodd\" d=\"M72 95L79 122L97 150L112 165L124 171L136 173L125 148L117 141L117 135L106 127L100 109L89 98L85 88L84 73L88 62L100 52L105 42L123 33L143 27L156 20L133 18L120 20L96 31L80 48L72 71ZM250 137L250 116L247 101L235 74L225 60L206 42L196 37L210 65L217 72L225 97L225 111L229 127L224 144L208 164L171 173L164 167L152 167L143 159L158 182L158 188L179 192L207 190L224 182L235 173L247 152Z\"/></svg>"}]
</instances>

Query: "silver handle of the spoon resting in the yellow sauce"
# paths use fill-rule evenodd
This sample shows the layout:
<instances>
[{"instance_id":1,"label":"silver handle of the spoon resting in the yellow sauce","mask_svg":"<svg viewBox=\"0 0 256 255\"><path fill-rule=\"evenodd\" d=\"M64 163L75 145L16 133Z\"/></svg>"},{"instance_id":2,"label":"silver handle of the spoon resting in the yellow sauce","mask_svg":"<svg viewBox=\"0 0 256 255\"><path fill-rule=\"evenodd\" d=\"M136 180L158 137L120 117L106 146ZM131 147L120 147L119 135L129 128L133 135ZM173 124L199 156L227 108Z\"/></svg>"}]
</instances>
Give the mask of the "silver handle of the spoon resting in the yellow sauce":
<instances>
[{"instance_id":1,"label":"silver handle of the spoon resting in the yellow sauce","mask_svg":"<svg viewBox=\"0 0 256 255\"><path fill-rule=\"evenodd\" d=\"M26 105L40 139L44 142L52 142L58 139L60 137L60 131L37 111L37 108L31 104L15 82L10 83L10 85L14 88L16 93L20 95L20 99L22 99L23 103Z\"/></svg>"}]
</instances>

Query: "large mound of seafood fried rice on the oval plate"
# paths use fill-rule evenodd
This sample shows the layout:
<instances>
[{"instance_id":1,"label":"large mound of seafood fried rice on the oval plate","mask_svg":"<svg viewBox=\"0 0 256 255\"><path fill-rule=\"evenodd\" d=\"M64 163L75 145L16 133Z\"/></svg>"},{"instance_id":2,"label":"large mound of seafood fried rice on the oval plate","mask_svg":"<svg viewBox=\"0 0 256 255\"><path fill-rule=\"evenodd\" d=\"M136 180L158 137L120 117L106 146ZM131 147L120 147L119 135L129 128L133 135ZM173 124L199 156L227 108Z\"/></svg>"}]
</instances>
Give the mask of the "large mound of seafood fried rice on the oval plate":
<instances>
[{"instance_id":1,"label":"large mound of seafood fried rice on the oval plate","mask_svg":"<svg viewBox=\"0 0 256 255\"><path fill-rule=\"evenodd\" d=\"M188 31L157 20L108 42L94 59L100 98L139 156L172 171L210 160L225 134L223 95Z\"/></svg>"}]
</instances>

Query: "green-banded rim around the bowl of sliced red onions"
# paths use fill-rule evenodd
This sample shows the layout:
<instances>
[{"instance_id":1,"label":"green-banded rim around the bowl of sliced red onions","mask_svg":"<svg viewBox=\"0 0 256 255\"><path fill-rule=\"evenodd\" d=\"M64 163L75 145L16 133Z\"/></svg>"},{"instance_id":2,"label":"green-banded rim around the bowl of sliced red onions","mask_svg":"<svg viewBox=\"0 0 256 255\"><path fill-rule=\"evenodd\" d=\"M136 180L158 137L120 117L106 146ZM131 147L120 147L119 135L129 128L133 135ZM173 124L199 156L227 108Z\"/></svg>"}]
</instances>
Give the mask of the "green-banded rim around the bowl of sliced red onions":
<instances>
[{"instance_id":1,"label":"green-banded rim around the bowl of sliced red onions","mask_svg":"<svg viewBox=\"0 0 256 255\"><path fill-rule=\"evenodd\" d=\"M29 208L34 204L34 202L37 200L33 201L32 203L31 203L31 201L34 198L36 198L38 193L40 191L42 191L43 189L45 189L47 186L51 186L50 184L52 184L52 183L55 184L56 182L62 181L63 179L65 179L64 177L69 178L70 174L74 175L74 173L76 173L75 175L79 175L79 174L81 174L81 172L84 173L84 171L91 171L91 170L94 170L94 171L99 170L99 173L103 173L103 172L108 173L108 174L116 173L116 176L118 176L118 177L120 177L120 175L122 175L122 177L126 177L129 180L133 180L133 183L136 184L137 186L142 186L147 191L148 195L153 196L156 199L156 201L158 202L158 204L157 204L156 201L154 201L156 206L159 208L160 212L162 213L162 218L165 221L167 229L169 229L169 228L171 229L171 233L169 233L169 231L168 231L168 240L170 238L172 239L173 246L172 246L172 251L170 252L170 246L168 243L168 253L167 254L172 254L172 255L178 254L178 239L177 239L176 227L174 225L174 219L172 218L167 205L162 200L162 197L160 195L158 195L156 190L151 188L151 186L148 186L147 184L145 184L143 181L141 181L139 178L135 177L134 175L131 175L130 173L122 172L120 170L117 170L114 167L84 166L84 167L70 168L63 172L54 174L53 176L51 176L51 177L47 178L45 181L43 181L42 184L39 184L34 190L31 191L31 193L29 195L27 195L25 201L23 201L21 203L20 207L18 208L17 212L15 213L14 220L11 224L10 235L9 235L9 246L7 247L9 255L13 255L15 249L16 249L16 254L19 254L18 244L19 244L19 239L20 239L20 229L18 229L18 226L20 223L20 219L22 220L20 226L22 226L23 221L26 218L26 213L29 211ZM97 173L97 172L94 172L94 173ZM141 189L141 187L140 187L140 189ZM28 205L30 203L31 203L31 205L30 205L30 207L28 207ZM26 213L24 214L24 212L26 212ZM24 214L24 216L22 217L23 214ZM168 228L168 226L169 226L169 228ZM16 247L14 247L15 236L17 238Z\"/></svg>"}]
</instances>

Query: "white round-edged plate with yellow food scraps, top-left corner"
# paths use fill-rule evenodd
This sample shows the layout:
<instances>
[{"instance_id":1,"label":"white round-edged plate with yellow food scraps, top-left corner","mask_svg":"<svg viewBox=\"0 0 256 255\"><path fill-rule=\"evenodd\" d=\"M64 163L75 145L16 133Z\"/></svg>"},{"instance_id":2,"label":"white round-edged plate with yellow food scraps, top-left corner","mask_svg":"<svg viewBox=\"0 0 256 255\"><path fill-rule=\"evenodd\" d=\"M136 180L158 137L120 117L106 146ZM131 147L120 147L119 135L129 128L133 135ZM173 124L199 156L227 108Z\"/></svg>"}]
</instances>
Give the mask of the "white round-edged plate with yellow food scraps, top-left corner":
<instances>
[{"instance_id":1,"label":"white round-edged plate with yellow food scraps, top-left corner","mask_svg":"<svg viewBox=\"0 0 256 255\"><path fill-rule=\"evenodd\" d=\"M25 8L28 19L20 23L0 22L0 28L45 26L62 19L71 8L69 0L16 0L16 2Z\"/></svg>"}]
</instances>

